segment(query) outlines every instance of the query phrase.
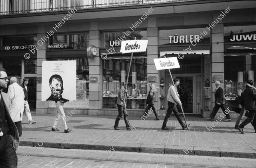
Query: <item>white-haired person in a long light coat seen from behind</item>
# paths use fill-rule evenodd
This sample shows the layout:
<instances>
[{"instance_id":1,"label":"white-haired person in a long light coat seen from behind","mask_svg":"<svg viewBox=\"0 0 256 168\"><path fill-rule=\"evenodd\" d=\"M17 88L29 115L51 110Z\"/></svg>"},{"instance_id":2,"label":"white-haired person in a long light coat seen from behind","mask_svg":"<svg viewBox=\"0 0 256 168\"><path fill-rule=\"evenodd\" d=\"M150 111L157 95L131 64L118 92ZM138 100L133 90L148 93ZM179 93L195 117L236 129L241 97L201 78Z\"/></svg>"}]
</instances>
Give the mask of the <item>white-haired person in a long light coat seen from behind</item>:
<instances>
[{"instance_id":1,"label":"white-haired person in a long light coat seen from behind","mask_svg":"<svg viewBox=\"0 0 256 168\"><path fill-rule=\"evenodd\" d=\"M12 77L10 79L8 95L11 99L10 116L18 129L19 136L21 136L22 134L21 121L22 121L23 112L24 112L25 95L22 87L20 87L20 85L17 84L17 78L15 77Z\"/></svg>"}]
</instances>

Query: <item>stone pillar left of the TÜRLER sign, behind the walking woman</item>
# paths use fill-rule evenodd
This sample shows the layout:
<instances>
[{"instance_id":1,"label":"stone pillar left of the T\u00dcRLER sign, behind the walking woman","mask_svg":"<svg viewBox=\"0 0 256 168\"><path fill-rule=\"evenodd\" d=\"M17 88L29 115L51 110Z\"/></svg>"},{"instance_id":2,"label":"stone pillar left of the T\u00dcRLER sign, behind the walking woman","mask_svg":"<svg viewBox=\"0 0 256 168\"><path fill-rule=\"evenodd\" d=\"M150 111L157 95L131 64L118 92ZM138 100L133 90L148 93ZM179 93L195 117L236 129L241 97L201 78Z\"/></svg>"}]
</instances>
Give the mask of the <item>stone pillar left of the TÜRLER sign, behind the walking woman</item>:
<instances>
[{"instance_id":1,"label":"stone pillar left of the T\u00dcRLER sign, behind the walking woman","mask_svg":"<svg viewBox=\"0 0 256 168\"><path fill-rule=\"evenodd\" d=\"M156 76L157 80L155 82L151 82L155 85L155 87L160 86L160 79L158 75L158 71L154 64L154 59L158 58L158 28L157 28L157 18L149 17L148 18L148 28L147 28L147 37L148 37L148 48L147 48L147 79L148 76ZM150 88L147 86L147 91L149 92ZM159 88L156 88L156 103L155 108L158 112L160 109L159 105Z\"/></svg>"}]
</instances>

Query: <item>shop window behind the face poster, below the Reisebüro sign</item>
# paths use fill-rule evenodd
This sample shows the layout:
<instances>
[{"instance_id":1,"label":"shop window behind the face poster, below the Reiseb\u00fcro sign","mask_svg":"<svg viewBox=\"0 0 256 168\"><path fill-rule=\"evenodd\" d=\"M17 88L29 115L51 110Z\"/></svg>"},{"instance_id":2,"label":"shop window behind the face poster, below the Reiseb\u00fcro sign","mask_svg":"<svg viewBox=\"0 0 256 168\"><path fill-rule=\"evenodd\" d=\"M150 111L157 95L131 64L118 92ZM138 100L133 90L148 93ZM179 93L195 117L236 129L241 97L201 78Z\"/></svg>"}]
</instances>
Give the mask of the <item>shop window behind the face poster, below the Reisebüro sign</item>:
<instances>
[{"instance_id":1,"label":"shop window behind the face poster, below the Reiseb\u00fcro sign","mask_svg":"<svg viewBox=\"0 0 256 168\"><path fill-rule=\"evenodd\" d=\"M67 108L89 109L89 64L88 59L51 59L51 61L76 60L76 101L65 103ZM68 87L68 84L64 85ZM50 101L50 106L55 107L55 102Z\"/></svg>"}]
</instances>

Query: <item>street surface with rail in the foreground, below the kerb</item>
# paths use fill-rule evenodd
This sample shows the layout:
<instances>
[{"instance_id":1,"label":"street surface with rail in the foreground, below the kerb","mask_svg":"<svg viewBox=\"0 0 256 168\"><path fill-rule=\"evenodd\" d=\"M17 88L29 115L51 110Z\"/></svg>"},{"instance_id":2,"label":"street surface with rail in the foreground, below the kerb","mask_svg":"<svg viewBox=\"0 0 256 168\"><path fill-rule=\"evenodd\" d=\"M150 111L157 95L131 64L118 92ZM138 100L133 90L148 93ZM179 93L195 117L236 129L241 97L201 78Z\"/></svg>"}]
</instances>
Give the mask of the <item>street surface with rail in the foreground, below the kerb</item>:
<instances>
[{"instance_id":1,"label":"street surface with rail in the foreground, below the kerb","mask_svg":"<svg viewBox=\"0 0 256 168\"><path fill-rule=\"evenodd\" d=\"M18 168L256 168L255 159L20 146Z\"/></svg>"}]
</instances>

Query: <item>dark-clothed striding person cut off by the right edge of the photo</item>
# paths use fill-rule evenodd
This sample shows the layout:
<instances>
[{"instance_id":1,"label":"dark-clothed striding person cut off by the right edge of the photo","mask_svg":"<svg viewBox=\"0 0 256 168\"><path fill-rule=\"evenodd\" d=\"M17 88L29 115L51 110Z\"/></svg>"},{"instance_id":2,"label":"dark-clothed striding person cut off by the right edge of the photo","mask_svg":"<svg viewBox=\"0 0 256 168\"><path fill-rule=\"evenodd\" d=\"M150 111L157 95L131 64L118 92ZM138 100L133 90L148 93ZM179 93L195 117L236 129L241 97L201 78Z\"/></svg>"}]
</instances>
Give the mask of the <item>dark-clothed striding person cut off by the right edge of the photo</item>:
<instances>
[{"instance_id":1,"label":"dark-clothed striding person cut off by the right edge of the photo","mask_svg":"<svg viewBox=\"0 0 256 168\"><path fill-rule=\"evenodd\" d=\"M247 84L253 86L253 81L248 80L246 85L245 85L245 90L242 92L242 98L244 100L244 106L245 109L249 111L248 118L244 120L243 123L240 124L240 126L237 127L237 129L244 134L243 128L246 126L248 123L253 121L253 127L255 129L256 133L256 90L254 90L252 87L248 86Z\"/></svg>"}]
</instances>

